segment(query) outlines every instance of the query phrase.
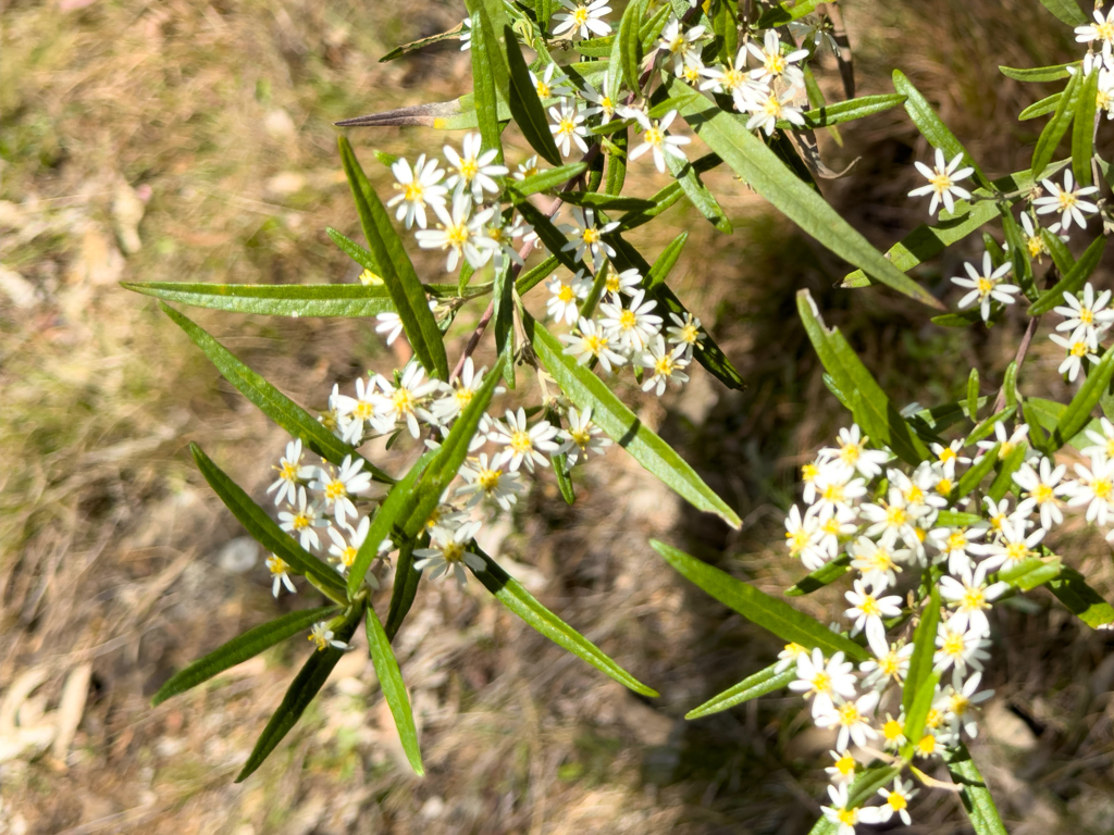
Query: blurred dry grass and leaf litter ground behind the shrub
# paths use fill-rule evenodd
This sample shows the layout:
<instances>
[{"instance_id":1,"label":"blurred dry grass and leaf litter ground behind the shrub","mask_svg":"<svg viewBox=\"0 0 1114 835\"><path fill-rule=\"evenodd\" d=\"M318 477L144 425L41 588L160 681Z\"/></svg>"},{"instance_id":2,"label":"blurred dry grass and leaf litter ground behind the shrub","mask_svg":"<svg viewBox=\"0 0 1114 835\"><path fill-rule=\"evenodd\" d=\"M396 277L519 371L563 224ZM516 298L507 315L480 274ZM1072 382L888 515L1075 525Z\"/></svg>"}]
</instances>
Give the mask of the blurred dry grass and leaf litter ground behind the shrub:
<instances>
[{"instance_id":1,"label":"blurred dry grass and leaf litter ground behind the shrub","mask_svg":"<svg viewBox=\"0 0 1114 835\"><path fill-rule=\"evenodd\" d=\"M645 542L674 542L772 593L795 580L781 536L795 468L848 420L798 324L797 289L812 291L902 404L955 399L971 365L984 392L995 391L1020 316L991 331L945 330L888 292L837 289L844 265L729 174L709 175L733 236L678 204L634 242L653 256L666 236L690 232L671 283L749 387L727 392L700 369L661 401L619 385L739 509L742 531L692 511L613 449L584 468L574 507L551 473L539 474L488 542L662 697L635 697L563 654L478 583L427 582L397 651L428 776L410 776L367 654L354 651L271 759L234 785L307 648L276 648L158 708L149 698L174 670L312 596L272 598L266 554L208 490L187 444L202 442L262 497L286 438L118 282L356 281L324 234L358 232L332 122L466 92L468 53L452 41L378 63L458 23L463 6L3 9L0 833L807 832L824 799L830 735L780 695L681 718L780 647L686 586ZM1042 122L1016 114L1053 90L996 67L1077 52L1036 0L856 0L843 11L859 95L891 91L898 67L988 173L1027 167ZM830 57L821 70L837 97ZM825 161L857 163L822 187L886 248L926 218L924 202L905 195L912 160L930 149L900 109L841 135L842 147L820 137ZM390 175L371 149L416 155L459 141L419 128L351 138L380 194ZM526 156L508 135L511 164ZM648 195L664 180L647 164L628 183ZM411 252L436 279L440 259ZM973 238L918 277L944 287L980 252ZM1108 265L1095 281L1108 286ZM455 333L479 313L466 308ZM365 322L189 315L310 409L325 405L333 382L350 386L405 358ZM1023 390L1067 396L1059 350L1042 338L1029 356ZM379 463L397 471L408 454ZM1053 544L1112 593L1100 537L1065 528ZM841 591L799 601L825 621L842 608ZM997 696L973 750L1010 832L1114 832L1111 639L1042 591L996 611L994 628ZM913 813L910 832L967 831L946 792L922 792Z\"/></svg>"}]
</instances>

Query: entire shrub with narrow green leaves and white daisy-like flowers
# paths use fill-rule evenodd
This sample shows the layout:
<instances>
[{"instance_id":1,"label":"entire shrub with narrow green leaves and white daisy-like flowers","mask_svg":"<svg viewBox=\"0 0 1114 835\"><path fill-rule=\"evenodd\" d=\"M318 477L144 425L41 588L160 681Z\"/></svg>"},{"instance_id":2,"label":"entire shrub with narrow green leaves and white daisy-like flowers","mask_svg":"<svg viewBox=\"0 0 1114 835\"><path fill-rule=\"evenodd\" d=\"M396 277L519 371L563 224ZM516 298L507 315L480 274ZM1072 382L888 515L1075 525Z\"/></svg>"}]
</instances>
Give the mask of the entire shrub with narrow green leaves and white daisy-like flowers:
<instances>
[{"instance_id":1,"label":"entire shrub with narrow green leaves and white daisy-like flowers","mask_svg":"<svg viewBox=\"0 0 1114 835\"><path fill-rule=\"evenodd\" d=\"M815 58L830 50L842 67L849 57L838 18L829 16L834 10L820 13L814 0L792 7L631 0L617 20L606 0L469 0L470 16L461 26L387 56L457 38L471 51L475 89L453 102L340 122L466 131L440 156L410 160L377 153L395 180L385 203L341 138L367 247L334 229L329 234L363 268L359 284L129 285L168 302L224 311L373 316L388 344L404 334L413 354L402 369L369 372L343 391L334 385L328 411L312 415L164 304L221 373L293 436L267 490L273 512L198 446L193 452L213 489L272 552L274 595L296 591L294 578L301 577L329 603L250 630L175 675L156 701L309 629L315 650L263 731L243 779L297 721L364 621L384 697L421 774L391 639L423 577L463 584L469 576L565 649L655 696L534 599L482 550L477 536L515 509L539 469L553 468L561 495L574 502L573 469L590 466L613 443L698 510L740 524L610 385L616 375L631 373L643 391L661 396L684 385L697 364L729 387L743 385L668 286L686 235L652 262L624 237L681 199L730 233L701 178L726 165L858 268L844 287L885 284L940 311L938 296L947 287L925 287L908 271L988 224L1000 225L1004 243L984 233L981 258L951 278L962 289L958 312L940 313L934 322L989 326L1022 306L1029 320L995 394L981 394L973 371L964 400L899 410L839 331L825 327L808 293L799 294L824 380L853 423L803 469L803 505L790 509L785 538L790 557L810 573L786 596L810 593L850 573L847 623L823 626L653 542L690 580L788 641L776 664L688 717L784 687L801 694L814 723L830 728L833 739L831 805L814 832L852 835L859 824L895 816L910 823L909 800L922 789L903 777L907 772L930 789L959 792L978 832L1004 832L964 744L977 734L977 706L989 695L980 689L993 648L987 610L1046 586L1089 626L1114 622L1114 608L1045 541L1065 513L1098 525L1108 518L1114 522L1108 420L1114 420L1114 352L1102 347L1114 308L1110 291L1096 294L1087 283L1104 237L1091 240L1077 259L1068 248L1073 235L1087 233L1094 215L1106 217L1104 200L1095 195L1096 184L1111 173L1094 140L1103 111L1114 114L1114 12L1096 11L1088 24L1072 3L1045 2L1076 27L1086 52L1071 65L1003 68L1010 78L1067 84L1020 115L1052 115L1030 169L996 180L900 71L893 73L892 95L853 98L846 82L848 100L827 104L812 71ZM570 53L579 60L564 60ZM930 196L934 223L883 256L821 197L814 178L830 174L815 154L812 131L898 106L935 148L931 165L916 164L927 185L910 193ZM508 124L532 156L507 157L501 136ZM694 158L684 125L709 153ZM1069 129L1071 158L1054 160ZM627 166L636 163L668 171L673 181L648 197L624 195ZM1045 219L1056 222L1042 226ZM419 278L407 254L409 234L418 248L443 253L449 281ZM538 285L548 322L536 320L522 303ZM465 305L485 297L486 311L450 367L446 335ZM1067 404L1018 391L1045 313L1062 318L1049 335L1066 352L1059 371L1079 383ZM497 358L491 367L478 367L473 352L489 330ZM527 385L527 377L536 385ZM507 400L510 389L515 401ZM1094 420L1096 409L1106 416ZM398 477L384 472L360 452L377 438L411 444L417 461ZM1068 448L1085 462L1073 462L1071 475ZM381 588L388 581L389 596ZM383 605L373 605L381 597ZM952 783L926 772L935 768L934 758L942 759Z\"/></svg>"}]
</instances>

